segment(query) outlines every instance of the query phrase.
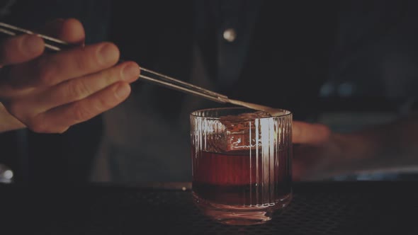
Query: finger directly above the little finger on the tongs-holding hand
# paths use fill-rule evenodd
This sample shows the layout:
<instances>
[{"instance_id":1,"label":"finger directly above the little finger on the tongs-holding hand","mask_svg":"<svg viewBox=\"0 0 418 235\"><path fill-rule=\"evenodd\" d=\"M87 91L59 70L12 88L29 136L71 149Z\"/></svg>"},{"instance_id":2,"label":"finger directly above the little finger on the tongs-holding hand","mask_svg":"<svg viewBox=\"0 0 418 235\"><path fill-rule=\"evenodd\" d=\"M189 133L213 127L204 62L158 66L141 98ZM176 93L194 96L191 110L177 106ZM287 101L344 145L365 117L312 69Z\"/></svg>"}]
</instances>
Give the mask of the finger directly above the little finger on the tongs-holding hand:
<instances>
[{"instance_id":1,"label":"finger directly above the little finger on the tongs-holding hand","mask_svg":"<svg viewBox=\"0 0 418 235\"><path fill-rule=\"evenodd\" d=\"M26 105L28 107L37 107L37 113L43 113L60 105L80 101L117 81L130 83L137 80L139 76L140 67L136 63L124 62L111 69L52 86L39 97L34 98L33 103Z\"/></svg>"}]
</instances>

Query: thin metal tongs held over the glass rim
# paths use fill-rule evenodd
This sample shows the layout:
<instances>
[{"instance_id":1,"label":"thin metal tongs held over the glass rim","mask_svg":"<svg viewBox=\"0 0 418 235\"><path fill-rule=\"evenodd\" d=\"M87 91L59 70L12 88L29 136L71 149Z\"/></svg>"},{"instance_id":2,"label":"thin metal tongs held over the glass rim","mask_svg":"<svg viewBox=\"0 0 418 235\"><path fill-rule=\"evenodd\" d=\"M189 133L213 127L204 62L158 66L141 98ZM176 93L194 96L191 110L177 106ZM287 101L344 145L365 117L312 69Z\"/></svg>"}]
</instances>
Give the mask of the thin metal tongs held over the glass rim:
<instances>
[{"instance_id":1,"label":"thin metal tongs held over the glass rim","mask_svg":"<svg viewBox=\"0 0 418 235\"><path fill-rule=\"evenodd\" d=\"M0 33L6 34L9 36L21 35L21 34L37 35L38 37L43 38L43 40L45 41L45 48L47 50L51 50L54 52L59 52L60 50L65 50L65 49L75 47L75 45L72 45L63 40L52 38L52 37L49 37L47 35L43 35L40 33L35 33L31 30L28 30L25 28L19 28L15 25L10 25L10 24L3 23L3 22L0 22ZM141 69L140 79L152 82L153 84L165 86L167 88L171 88L177 91L182 91L182 92L194 95L194 96L199 96L201 98L206 98L210 101L215 101L218 103L231 103L234 105L239 105L239 106L251 108L254 110L261 110L266 113L269 113L270 115L282 115L284 113L284 110L281 110L278 108L271 108L271 107L267 107L264 105L257 105L254 103L247 103L244 101L232 100L228 98L227 96L222 95L220 93L209 91L205 88L201 88L193 84L188 84L185 81L174 79L170 76L166 76L164 74L160 74L155 71L145 69L144 67L141 67L140 69Z\"/></svg>"}]
</instances>

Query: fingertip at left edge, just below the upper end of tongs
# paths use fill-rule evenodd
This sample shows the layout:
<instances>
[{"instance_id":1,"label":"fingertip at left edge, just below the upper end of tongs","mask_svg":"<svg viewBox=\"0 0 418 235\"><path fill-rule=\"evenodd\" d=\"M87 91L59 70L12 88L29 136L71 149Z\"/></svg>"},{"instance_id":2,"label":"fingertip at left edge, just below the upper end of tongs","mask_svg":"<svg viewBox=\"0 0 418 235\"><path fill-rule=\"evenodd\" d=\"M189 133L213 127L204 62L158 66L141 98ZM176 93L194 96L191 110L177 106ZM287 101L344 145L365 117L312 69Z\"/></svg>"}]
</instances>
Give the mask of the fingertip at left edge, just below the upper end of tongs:
<instances>
[{"instance_id":1,"label":"fingertip at left edge, just below the upper end of tongs","mask_svg":"<svg viewBox=\"0 0 418 235\"><path fill-rule=\"evenodd\" d=\"M44 49L42 38L35 35L6 38L0 44L0 66L27 62L40 56Z\"/></svg>"}]
</instances>

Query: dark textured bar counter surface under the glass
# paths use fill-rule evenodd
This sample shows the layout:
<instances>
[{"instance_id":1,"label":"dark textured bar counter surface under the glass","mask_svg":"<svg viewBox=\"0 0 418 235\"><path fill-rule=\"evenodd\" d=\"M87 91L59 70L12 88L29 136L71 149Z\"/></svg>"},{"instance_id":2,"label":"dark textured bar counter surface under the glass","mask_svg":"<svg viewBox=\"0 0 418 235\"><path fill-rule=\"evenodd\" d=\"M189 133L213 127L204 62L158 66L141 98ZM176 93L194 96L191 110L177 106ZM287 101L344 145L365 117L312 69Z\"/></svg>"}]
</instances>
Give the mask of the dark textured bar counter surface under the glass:
<instances>
[{"instance_id":1,"label":"dark textured bar counter surface under the glass","mask_svg":"<svg viewBox=\"0 0 418 235\"><path fill-rule=\"evenodd\" d=\"M293 183L290 205L253 226L204 217L191 183L0 184L0 234L418 234L417 183Z\"/></svg>"}]
</instances>

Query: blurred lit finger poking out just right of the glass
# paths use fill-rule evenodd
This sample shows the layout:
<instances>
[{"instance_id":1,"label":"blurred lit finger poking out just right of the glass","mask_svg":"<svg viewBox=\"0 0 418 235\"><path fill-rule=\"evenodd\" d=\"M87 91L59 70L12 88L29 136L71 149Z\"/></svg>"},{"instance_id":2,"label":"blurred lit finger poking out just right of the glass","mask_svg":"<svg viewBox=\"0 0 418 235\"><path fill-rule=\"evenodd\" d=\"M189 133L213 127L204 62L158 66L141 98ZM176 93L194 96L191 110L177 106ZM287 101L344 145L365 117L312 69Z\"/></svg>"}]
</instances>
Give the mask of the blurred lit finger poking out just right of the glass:
<instances>
[{"instance_id":1,"label":"blurred lit finger poking out just right of the glass","mask_svg":"<svg viewBox=\"0 0 418 235\"><path fill-rule=\"evenodd\" d=\"M322 124L293 121L293 143L322 144L327 142L331 130Z\"/></svg>"}]
</instances>

